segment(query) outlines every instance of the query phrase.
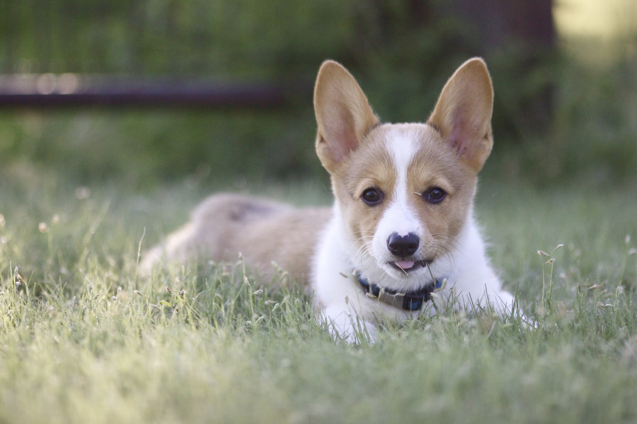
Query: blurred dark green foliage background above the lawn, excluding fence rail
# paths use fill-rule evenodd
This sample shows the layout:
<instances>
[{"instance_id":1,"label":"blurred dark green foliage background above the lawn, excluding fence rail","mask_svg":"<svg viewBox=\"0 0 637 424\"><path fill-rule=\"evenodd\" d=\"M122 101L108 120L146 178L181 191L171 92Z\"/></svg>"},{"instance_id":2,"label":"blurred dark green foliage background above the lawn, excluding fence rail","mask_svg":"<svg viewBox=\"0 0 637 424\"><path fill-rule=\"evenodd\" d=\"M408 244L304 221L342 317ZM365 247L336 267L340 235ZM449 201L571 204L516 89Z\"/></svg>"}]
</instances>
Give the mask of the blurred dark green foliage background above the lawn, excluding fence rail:
<instances>
[{"instance_id":1,"label":"blurred dark green foliage background above the lawn, excluding fence rail","mask_svg":"<svg viewBox=\"0 0 637 424\"><path fill-rule=\"evenodd\" d=\"M278 109L0 109L0 167L134 189L324 179L311 108L322 60L345 64L383 121L424 121L454 69L482 55L496 90L485 178L633 179L636 8L633 0L0 0L0 73L306 87Z\"/></svg>"}]
</instances>

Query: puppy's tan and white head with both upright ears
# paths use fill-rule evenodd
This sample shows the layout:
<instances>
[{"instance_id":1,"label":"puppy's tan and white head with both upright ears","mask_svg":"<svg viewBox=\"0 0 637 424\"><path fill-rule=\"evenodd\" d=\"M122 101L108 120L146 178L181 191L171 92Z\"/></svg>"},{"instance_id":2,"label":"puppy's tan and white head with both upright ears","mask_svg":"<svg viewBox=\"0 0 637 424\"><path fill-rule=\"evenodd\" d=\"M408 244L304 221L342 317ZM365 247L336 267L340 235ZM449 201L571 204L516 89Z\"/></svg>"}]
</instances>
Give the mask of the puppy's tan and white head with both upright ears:
<instances>
[{"instance_id":1,"label":"puppy's tan and white head with both upright ears","mask_svg":"<svg viewBox=\"0 0 637 424\"><path fill-rule=\"evenodd\" d=\"M412 279L449 252L493 145L492 105L487 67L473 58L449 79L427 123L381 125L354 77L324 62L316 148L357 266Z\"/></svg>"}]
</instances>

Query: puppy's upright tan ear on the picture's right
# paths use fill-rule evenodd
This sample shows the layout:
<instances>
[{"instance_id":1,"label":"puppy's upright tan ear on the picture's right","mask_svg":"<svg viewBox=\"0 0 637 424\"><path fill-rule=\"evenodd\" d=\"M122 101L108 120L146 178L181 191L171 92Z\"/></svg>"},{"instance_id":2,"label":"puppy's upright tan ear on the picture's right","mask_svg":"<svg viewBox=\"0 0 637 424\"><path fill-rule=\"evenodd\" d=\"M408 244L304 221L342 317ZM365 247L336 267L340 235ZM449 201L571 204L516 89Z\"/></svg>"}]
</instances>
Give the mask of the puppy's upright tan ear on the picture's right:
<instances>
[{"instance_id":1,"label":"puppy's upright tan ear on the picture's right","mask_svg":"<svg viewBox=\"0 0 637 424\"><path fill-rule=\"evenodd\" d=\"M429 123L477 173L493 147L493 86L481 58L464 62L440 93Z\"/></svg>"}]
</instances>

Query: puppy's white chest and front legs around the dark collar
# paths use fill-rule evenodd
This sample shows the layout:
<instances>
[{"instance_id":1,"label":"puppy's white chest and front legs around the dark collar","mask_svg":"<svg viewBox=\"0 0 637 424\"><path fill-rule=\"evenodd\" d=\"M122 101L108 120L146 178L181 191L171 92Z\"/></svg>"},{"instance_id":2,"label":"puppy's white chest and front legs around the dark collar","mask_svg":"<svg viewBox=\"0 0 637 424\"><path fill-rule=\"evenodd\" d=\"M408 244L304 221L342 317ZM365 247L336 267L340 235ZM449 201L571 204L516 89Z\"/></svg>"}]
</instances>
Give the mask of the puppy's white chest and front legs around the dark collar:
<instances>
[{"instance_id":1,"label":"puppy's white chest and front legs around the dark collar","mask_svg":"<svg viewBox=\"0 0 637 424\"><path fill-rule=\"evenodd\" d=\"M333 334L350 341L354 341L355 333L362 330L373 339L380 321L404 320L419 315L421 311L402 310L366 296L352 278L354 270L359 270L361 275L380 287L409 290L431 282L431 277L447 278L447 285L438 301L448 297L455 287L456 306L459 308L469 307L469 303L485 306L487 301L500 312L512 307L513 296L502 290L489 264L485 244L472 214L457 236L454 248L429 266L429 277L420 274L413 280L396 280L384 273L373 257L357 251L355 238L347 231L338 203L334 205L333 218L319 239L313 261L312 287L319 317L326 320ZM424 309L432 310L427 306Z\"/></svg>"}]
</instances>

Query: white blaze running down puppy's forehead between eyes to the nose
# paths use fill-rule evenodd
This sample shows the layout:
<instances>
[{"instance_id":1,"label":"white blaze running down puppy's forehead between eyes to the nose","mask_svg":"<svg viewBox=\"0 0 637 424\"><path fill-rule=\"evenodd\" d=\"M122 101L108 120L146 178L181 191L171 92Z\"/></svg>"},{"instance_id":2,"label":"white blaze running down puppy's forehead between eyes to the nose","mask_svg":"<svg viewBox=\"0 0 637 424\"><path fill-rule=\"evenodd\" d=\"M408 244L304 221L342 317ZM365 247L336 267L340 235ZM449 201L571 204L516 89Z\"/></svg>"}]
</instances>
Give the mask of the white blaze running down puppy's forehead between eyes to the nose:
<instances>
[{"instance_id":1,"label":"white blaze running down puppy's forehead between eyes to the nose","mask_svg":"<svg viewBox=\"0 0 637 424\"><path fill-rule=\"evenodd\" d=\"M379 236L378 242L382 242L383 245L392 233L398 233L400 236L416 233L421 236L422 230L420 221L408 202L409 196L415 195L409 193L407 186L408 168L412 163L413 156L417 153L417 141L413 134L399 130L389 132L386 137L385 147L387 147L394 163L396 181L391 196L392 201L387 206L376 229L376 234ZM385 247L385 249L387 248Z\"/></svg>"}]
</instances>

